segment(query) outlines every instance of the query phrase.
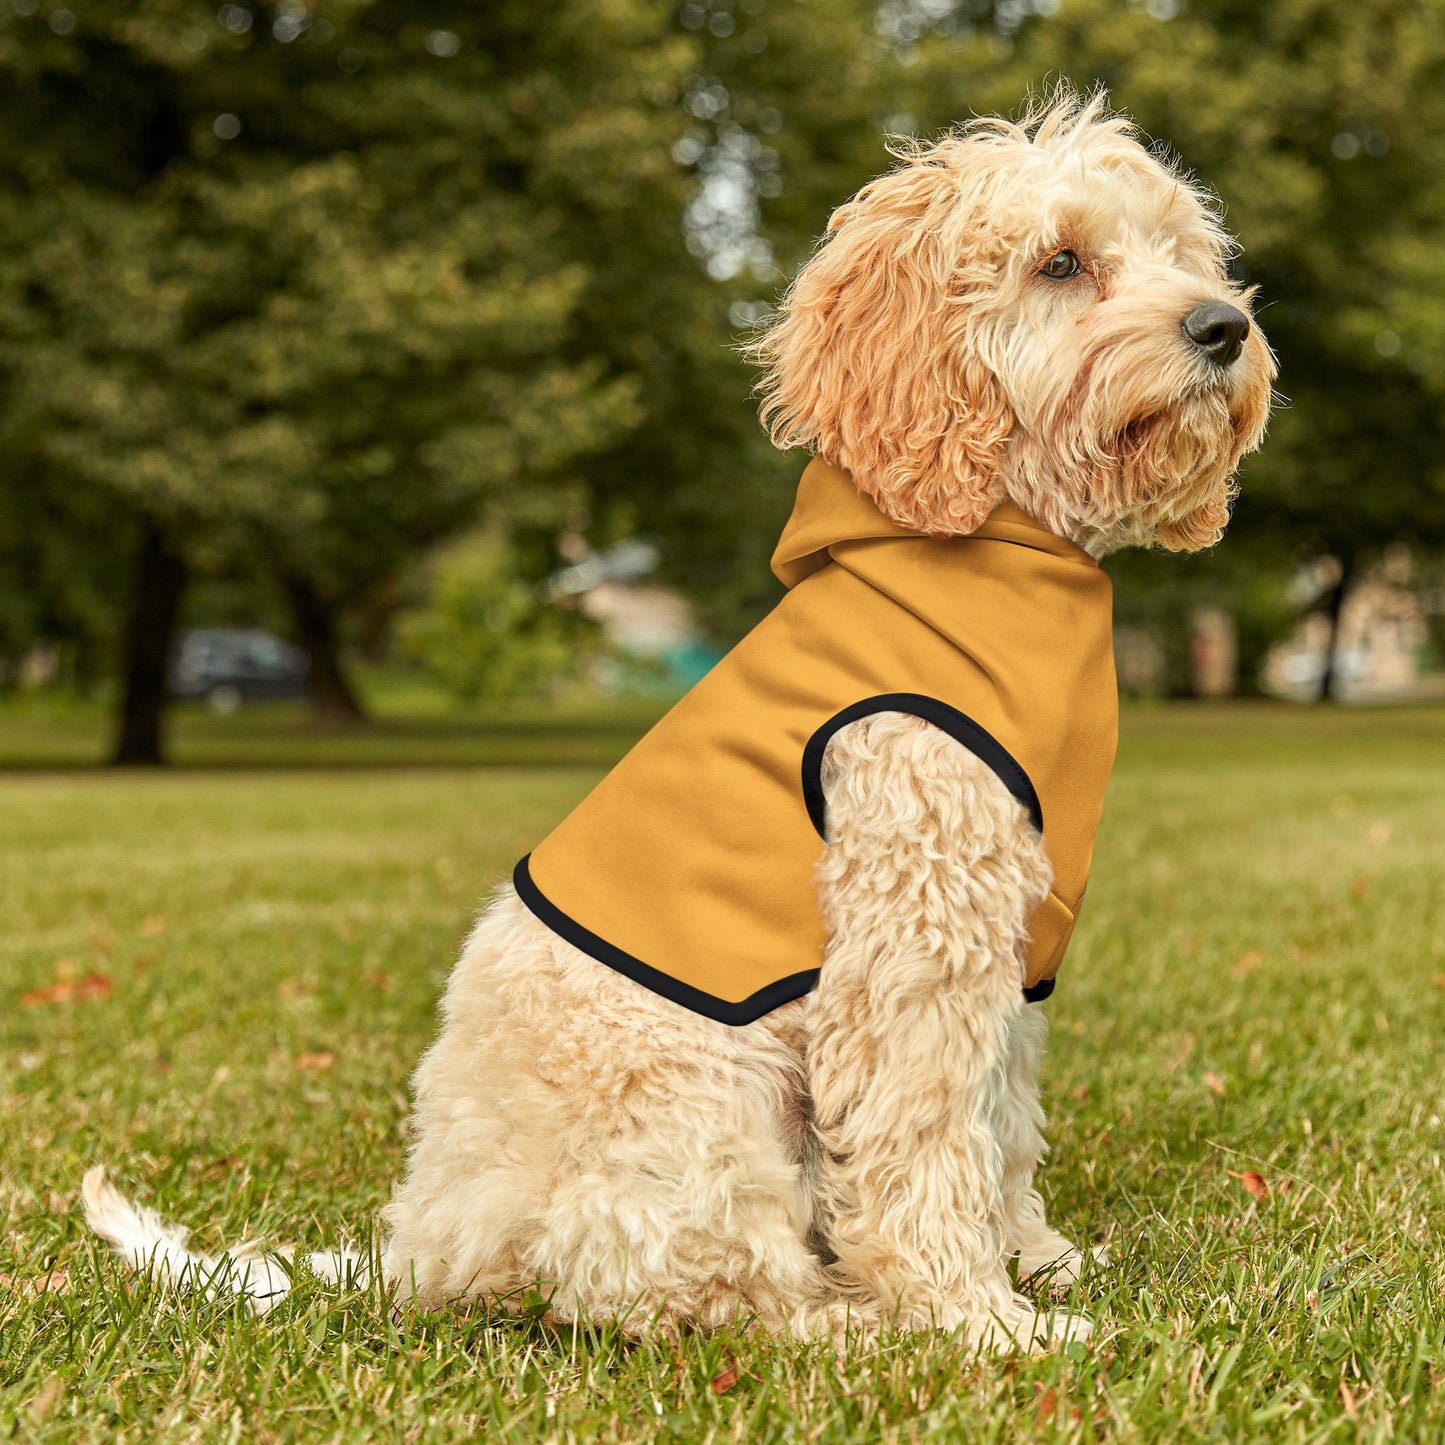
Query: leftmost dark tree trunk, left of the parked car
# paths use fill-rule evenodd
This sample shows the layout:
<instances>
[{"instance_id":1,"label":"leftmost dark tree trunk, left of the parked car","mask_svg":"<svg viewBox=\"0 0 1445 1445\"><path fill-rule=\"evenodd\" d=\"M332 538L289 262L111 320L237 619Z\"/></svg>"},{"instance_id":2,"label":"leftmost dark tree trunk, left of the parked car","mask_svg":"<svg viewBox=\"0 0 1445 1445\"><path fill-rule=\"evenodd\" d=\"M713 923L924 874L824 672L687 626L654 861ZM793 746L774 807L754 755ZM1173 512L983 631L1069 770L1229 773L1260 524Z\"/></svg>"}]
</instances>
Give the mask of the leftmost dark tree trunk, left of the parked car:
<instances>
[{"instance_id":1,"label":"leftmost dark tree trunk, left of the parked car","mask_svg":"<svg viewBox=\"0 0 1445 1445\"><path fill-rule=\"evenodd\" d=\"M136 582L126 618L120 727L111 762L118 767L159 767L165 762L162 722L166 668L175 640L185 562L171 551L155 523L146 523L136 561Z\"/></svg>"}]
</instances>

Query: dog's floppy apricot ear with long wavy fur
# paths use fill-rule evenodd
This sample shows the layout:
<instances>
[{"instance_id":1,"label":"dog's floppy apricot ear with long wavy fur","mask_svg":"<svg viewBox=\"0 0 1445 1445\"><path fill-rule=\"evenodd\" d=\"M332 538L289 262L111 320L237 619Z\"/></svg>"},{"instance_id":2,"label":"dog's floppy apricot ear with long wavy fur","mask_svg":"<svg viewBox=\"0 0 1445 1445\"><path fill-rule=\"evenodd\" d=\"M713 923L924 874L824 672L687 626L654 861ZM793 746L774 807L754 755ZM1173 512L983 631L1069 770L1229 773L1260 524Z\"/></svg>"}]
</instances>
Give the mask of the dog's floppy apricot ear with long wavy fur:
<instances>
[{"instance_id":1,"label":"dog's floppy apricot ear with long wavy fur","mask_svg":"<svg viewBox=\"0 0 1445 1445\"><path fill-rule=\"evenodd\" d=\"M970 143L864 186L747 350L775 445L811 447L903 526L965 535L1003 501L1013 415L971 335Z\"/></svg>"}]
</instances>

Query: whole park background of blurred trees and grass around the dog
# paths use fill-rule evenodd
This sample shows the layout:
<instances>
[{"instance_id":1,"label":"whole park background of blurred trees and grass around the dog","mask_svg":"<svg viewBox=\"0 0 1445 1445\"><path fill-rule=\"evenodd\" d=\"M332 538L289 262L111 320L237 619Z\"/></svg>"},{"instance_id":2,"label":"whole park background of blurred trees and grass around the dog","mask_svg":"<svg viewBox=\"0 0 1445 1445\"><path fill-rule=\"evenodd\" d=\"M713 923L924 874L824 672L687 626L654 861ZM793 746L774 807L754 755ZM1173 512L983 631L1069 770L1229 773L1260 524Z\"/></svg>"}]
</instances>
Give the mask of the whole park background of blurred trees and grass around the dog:
<instances>
[{"instance_id":1,"label":"whole park background of blurred trees and grass around the dog","mask_svg":"<svg viewBox=\"0 0 1445 1445\"><path fill-rule=\"evenodd\" d=\"M1107 562L1045 1085L1095 1342L127 1280L98 1160L368 1243L478 900L776 597L737 345L886 134L1061 78L1220 194L1283 397L1217 549ZM1439 0L0 0L0 1435L1439 1439L1442 137ZM215 629L308 695L168 699Z\"/></svg>"}]
</instances>

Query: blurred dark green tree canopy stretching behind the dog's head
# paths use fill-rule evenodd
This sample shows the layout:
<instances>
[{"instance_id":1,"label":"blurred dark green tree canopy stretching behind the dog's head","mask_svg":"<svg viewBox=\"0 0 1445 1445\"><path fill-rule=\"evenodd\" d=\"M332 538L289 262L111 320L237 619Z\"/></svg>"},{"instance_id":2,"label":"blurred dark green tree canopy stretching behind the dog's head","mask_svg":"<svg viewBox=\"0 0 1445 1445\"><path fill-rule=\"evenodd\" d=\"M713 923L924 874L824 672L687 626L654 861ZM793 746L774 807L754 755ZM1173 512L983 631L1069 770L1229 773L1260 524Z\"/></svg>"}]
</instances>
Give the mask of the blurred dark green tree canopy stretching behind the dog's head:
<instances>
[{"instance_id":1,"label":"blurred dark green tree canopy stretching behind the dog's head","mask_svg":"<svg viewBox=\"0 0 1445 1445\"><path fill-rule=\"evenodd\" d=\"M1222 592L1263 639L1261 575L1331 555L1342 597L1392 540L1445 546L1442 19L0 0L0 659L118 676L117 756L156 760L186 578L264 574L345 712L340 623L483 523L523 578L562 530L644 532L736 634L798 471L738 334L886 130L1061 77L1225 198L1289 399L1227 549L1118 559L1121 611Z\"/></svg>"}]
</instances>

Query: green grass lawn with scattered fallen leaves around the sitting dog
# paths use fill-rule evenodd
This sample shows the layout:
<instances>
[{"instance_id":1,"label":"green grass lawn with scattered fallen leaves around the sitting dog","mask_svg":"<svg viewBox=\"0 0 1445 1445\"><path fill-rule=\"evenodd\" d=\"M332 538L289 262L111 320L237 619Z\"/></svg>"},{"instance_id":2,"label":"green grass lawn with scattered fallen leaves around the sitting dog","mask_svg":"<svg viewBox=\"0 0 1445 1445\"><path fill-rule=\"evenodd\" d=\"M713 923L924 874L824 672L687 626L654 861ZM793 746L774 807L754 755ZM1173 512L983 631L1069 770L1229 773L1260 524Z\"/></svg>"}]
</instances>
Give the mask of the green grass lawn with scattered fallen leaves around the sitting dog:
<instances>
[{"instance_id":1,"label":"green grass lawn with scattered fallen leaves around the sitting dog","mask_svg":"<svg viewBox=\"0 0 1445 1445\"><path fill-rule=\"evenodd\" d=\"M97 1160L202 1247L366 1240L480 897L644 711L197 718L182 760L288 767L163 776L0 718L0 1438L1445 1439L1442 709L1126 715L1045 1006L1087 1348L673 1353L314 1280L253 1319L88 1241Z\"/></svg>"}]
</instances>

